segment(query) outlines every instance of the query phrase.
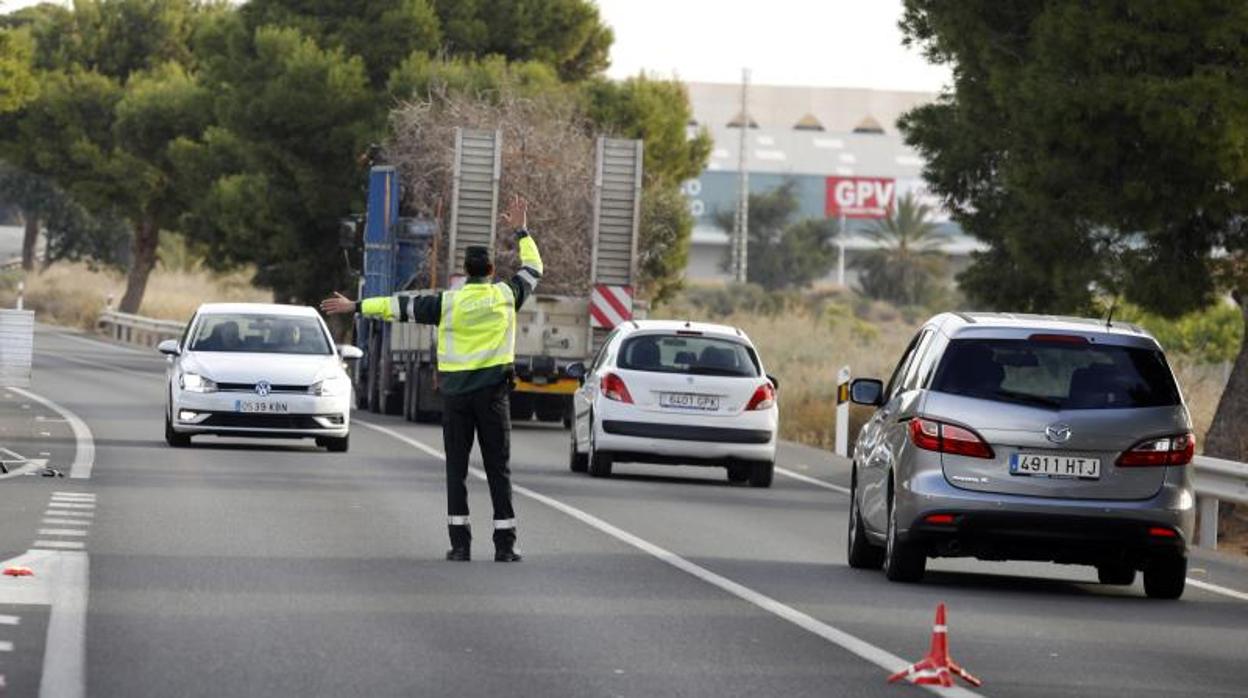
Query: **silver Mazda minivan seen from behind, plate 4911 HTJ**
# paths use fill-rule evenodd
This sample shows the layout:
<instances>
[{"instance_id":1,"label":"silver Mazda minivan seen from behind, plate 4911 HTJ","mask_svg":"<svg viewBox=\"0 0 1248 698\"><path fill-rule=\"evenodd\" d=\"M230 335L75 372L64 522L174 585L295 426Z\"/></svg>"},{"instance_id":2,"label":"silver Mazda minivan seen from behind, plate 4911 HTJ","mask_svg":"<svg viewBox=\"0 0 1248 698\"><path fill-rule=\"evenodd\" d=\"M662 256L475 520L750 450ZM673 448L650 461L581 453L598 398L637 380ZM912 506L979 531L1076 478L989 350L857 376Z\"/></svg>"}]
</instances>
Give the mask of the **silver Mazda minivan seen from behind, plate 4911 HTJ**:
<instances>
[{"instance_id":1,"label":"silver Mazda minivan seen from behind, plate 4911 HTJ","mask_svg":"<svg viewBox=\"0 0 1248 698\"><path fill-rule=\"evenodd\" d=\"M1178 598L1194 527L1192 420L1133 325L945 313L910 342L854 450L849 563L919 581L929 557L1088 564Z\"/></svg>"}]
</instances>

